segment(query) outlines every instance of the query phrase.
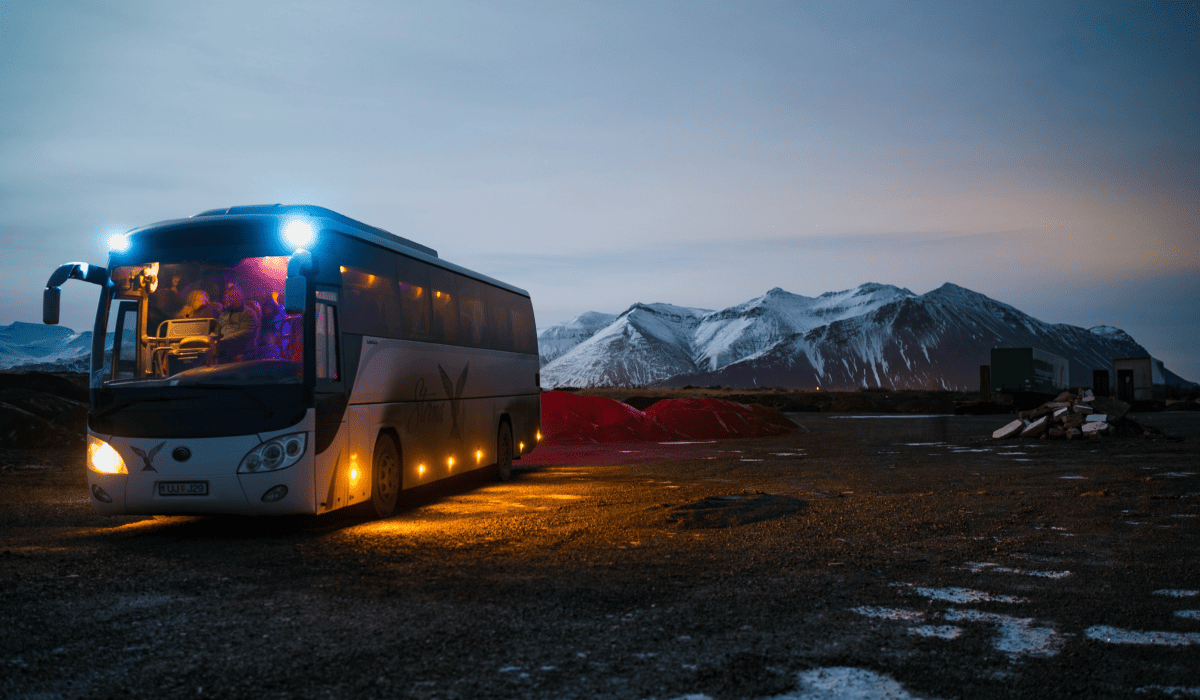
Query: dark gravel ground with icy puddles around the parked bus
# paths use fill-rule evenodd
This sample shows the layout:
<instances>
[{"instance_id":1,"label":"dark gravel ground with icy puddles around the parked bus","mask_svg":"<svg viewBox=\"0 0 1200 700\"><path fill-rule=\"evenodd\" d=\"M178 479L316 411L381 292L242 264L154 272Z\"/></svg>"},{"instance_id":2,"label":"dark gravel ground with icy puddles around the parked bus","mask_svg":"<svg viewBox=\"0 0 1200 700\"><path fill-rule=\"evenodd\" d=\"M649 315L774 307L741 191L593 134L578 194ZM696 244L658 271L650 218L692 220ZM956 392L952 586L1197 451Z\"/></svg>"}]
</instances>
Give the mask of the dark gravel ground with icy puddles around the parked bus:
<instances>
[{"instance_id":1,"label":"dark gravel ground with icy puddles around the parked bus","mask_svg":"<svg viewBox=\"0 0 1200 700\"><path fill-rule=\"evenodd\" d=\"M0 695L1200 696L1200 414L793 419L383 521L102 519L82 455L0 451Z\"/></svg>"}]
</instances>

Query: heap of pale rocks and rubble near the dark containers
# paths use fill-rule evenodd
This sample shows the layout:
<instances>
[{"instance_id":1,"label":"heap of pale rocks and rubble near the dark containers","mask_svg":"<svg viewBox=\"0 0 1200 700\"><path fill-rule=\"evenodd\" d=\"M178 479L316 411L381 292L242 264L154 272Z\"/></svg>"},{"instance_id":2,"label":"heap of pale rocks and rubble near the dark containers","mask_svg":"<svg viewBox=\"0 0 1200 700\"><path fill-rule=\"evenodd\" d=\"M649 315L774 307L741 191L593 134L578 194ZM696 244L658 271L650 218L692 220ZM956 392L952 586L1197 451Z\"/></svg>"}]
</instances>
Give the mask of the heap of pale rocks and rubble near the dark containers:
<instances>
[{"instance_id":1,"label":"heap of pale rocks and rubble near the dark containers","mask_svg":"<svg viewBox=\"0 0 1200 700\"><path fill-rule=\"evenodd\" d=\"M1022 411L1018 419L991 433L995 439L1010 437L1078 439L1102 436L1162 435L1153 427L1138 424L1126 413L1129 405L1110 396L1094 396L1091 389L1079 394L1063 391L1031 411Z\"/></svg>"}]
</instances>

